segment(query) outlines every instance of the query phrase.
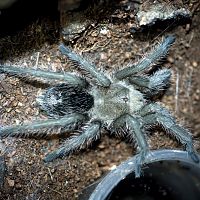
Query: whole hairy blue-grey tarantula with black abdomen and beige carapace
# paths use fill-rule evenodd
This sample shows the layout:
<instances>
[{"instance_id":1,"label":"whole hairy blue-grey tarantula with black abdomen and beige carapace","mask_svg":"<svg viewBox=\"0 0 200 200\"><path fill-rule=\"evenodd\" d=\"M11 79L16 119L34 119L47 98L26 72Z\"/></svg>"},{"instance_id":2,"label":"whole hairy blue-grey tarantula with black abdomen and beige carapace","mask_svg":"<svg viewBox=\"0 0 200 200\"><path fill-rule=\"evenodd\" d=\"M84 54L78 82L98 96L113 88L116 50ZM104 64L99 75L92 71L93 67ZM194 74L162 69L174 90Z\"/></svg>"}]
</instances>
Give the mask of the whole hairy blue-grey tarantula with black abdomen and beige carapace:
<instances>
[{"instance_id":1,"label":"whole hairy blue-grey tarantula with black abdomen and beige carapace","mask_svg":"<svg viewBox=\"0 0 200 200\"><path fill-rule=\"evenodd\" d=\"M139 154L135 171L136 176L140 176L141 166L150 151L145 133L149 127L158 124L184 144L191 158L199 162L191 134L176 123L167 109L151 101L152 97L169 84L171 71L159 69L154 74L149 74L148 71L167 55L174 41L174 36L165 37L136 64L111 75L99 71L93 63L64 44L59 46L61 53L78 66L85 76L1 65L1 73L62 80L64 83L48 88L37 98L40 108L47 113L48 120L2 127L0 137L44 136L51 131L59 134L79 131L59 149L46 156L44 160L50 162L86 148L100 138L101 128L107 128L111 134L136 140Z\"/></svg>"}]
</instances>

